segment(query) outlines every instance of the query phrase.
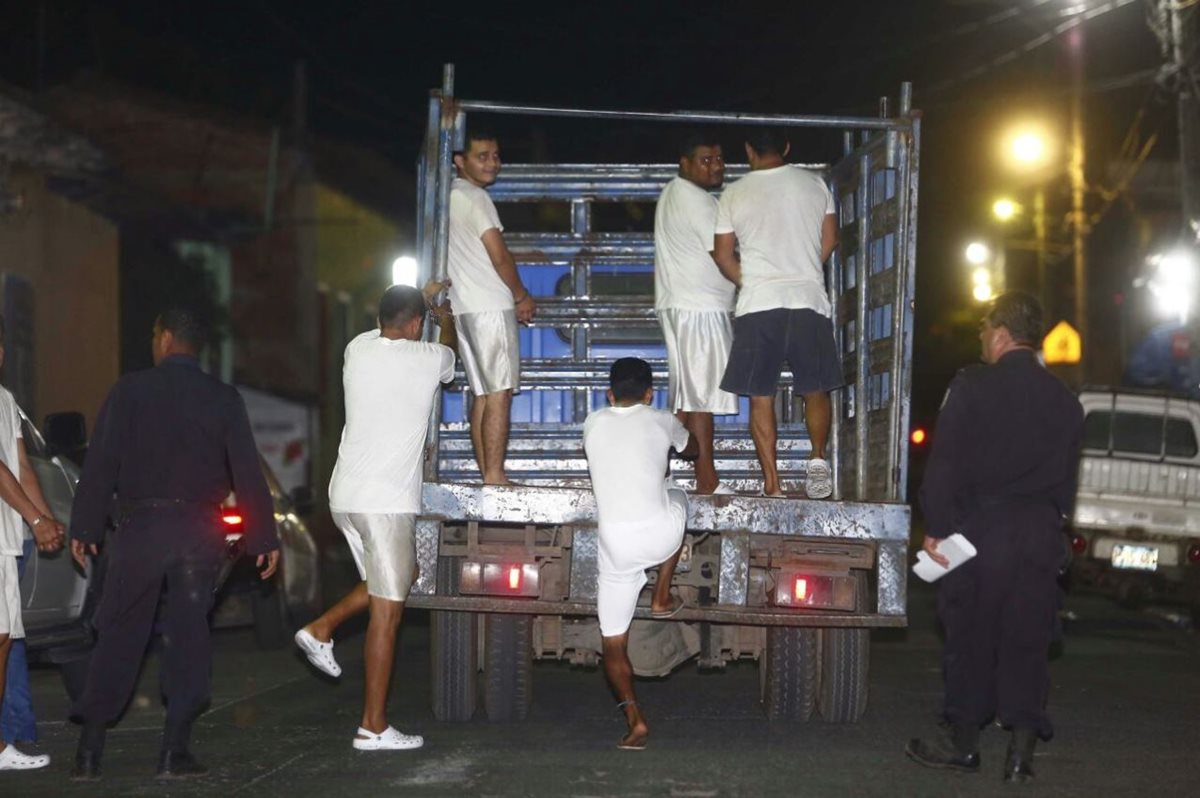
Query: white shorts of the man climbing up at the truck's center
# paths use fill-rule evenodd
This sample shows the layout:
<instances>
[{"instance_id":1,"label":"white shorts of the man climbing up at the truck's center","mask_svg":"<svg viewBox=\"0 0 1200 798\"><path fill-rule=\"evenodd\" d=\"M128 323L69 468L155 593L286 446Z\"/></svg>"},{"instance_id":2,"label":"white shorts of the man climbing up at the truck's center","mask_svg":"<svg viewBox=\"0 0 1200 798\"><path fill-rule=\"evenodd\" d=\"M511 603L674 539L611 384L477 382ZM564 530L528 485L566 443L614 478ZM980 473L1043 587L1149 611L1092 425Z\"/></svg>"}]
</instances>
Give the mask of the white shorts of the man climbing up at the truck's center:
<instances>
[{"instance_id":1,"label":"white shorts of the man climbing up at the truck's center","mask_svg":"<svg viewBox=\"0 0 1200 798\"><path fill-rule=\"evenodd\" d=\"M688 494L671 487L667 500L670 516L658 523L614 524L600 529L596 614L602 637L629 631L637 596L646 587L646 569L671 559L683 545Z\"/></svg>"}]
</instances>

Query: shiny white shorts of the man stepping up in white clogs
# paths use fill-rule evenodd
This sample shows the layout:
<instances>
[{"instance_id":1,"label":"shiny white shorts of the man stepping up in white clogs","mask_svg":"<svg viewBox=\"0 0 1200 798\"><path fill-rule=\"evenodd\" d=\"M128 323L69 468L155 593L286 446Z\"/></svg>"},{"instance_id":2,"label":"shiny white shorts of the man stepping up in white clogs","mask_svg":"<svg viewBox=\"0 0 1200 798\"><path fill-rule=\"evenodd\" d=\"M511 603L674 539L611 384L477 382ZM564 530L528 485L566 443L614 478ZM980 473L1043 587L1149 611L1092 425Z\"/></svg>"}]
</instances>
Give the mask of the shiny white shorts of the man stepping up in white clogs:
<instances>
[{"instance_id":1,"label":"shiny white shorts of the man stepping up in white clogs","mask_svg":"<svg viewBox=\"0 0 1200 798\"><path fill-rule=\"evenodd\" d=\"M416 581L416 514L334 512L367 593L403 601Z\"/></svg>"}]
</instances>

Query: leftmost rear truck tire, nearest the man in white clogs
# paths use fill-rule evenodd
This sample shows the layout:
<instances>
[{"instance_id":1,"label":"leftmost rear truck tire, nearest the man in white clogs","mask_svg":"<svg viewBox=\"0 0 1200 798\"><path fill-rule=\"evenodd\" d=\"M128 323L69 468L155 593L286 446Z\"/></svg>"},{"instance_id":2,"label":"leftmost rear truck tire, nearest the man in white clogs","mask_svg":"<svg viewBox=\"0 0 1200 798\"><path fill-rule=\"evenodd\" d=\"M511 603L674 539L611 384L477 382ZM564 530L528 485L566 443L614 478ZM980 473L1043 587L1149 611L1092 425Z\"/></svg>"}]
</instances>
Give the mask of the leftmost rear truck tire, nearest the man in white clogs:
<instances>
[{"instance_id":1,"label":"leftmost rear truck tire, nearest the man in white clogs","mask_svg":"<svg viewBox=\"0 0 1200 798\"><path fill-rule=\"evenodd\" d=\"M457 592L457 559L438 559L438 593L455 595ZM476 629L474 612L443 610L430 613L431 694L433 716L438 720L464 722L475 714Z\"/></svg>"}]
</instances>

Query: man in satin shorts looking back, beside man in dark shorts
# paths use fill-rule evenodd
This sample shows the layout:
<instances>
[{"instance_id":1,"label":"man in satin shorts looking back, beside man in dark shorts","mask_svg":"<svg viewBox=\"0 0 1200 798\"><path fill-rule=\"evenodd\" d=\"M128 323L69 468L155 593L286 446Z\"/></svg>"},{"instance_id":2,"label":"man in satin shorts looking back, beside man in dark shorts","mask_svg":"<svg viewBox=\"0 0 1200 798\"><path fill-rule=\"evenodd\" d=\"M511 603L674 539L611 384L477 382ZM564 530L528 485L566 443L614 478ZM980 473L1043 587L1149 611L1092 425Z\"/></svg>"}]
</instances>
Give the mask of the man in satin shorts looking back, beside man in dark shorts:
<instances>
[{"instance_id":1,"label":"man in satin shorts looking back, beside man in dark shorts","mask_svg":"<svg viewBox=\"0 0 1200 798\"><path fill-rule=\"evenodd\" d=\"M696 436L697 493L733 492L720 484L713 462L713 415L738 412L738 397L720 388L737 288L712 254L716 198L708 192L724 180L721 145L690 133L679 146L679 175L654 211L654 308L667 346L667 403Z\"/></svg>"}]
</instances>

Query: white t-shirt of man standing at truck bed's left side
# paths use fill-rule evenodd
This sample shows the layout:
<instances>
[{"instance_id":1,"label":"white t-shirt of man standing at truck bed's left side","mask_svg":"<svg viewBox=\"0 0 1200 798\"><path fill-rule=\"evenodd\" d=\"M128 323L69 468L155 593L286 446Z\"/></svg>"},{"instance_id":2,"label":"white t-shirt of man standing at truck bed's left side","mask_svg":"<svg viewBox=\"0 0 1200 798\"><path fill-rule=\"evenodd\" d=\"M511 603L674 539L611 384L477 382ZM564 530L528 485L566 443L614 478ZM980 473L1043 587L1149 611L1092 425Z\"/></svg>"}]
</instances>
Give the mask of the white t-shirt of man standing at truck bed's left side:
<instances>
[{"instance_id":1,"label":"white t-shirt of man standing at truck bed's left side","mask_svg":"<svg viewBox=\"0 0 1200 798\"><path fill-rule=\"evenodd\" d=\"M450 186L450 307L455 313L512 310L512 292L504 284L484 247L482 235L503 232L500 215L487 192L462 178Z\"/></svg>"}]
</instances>

